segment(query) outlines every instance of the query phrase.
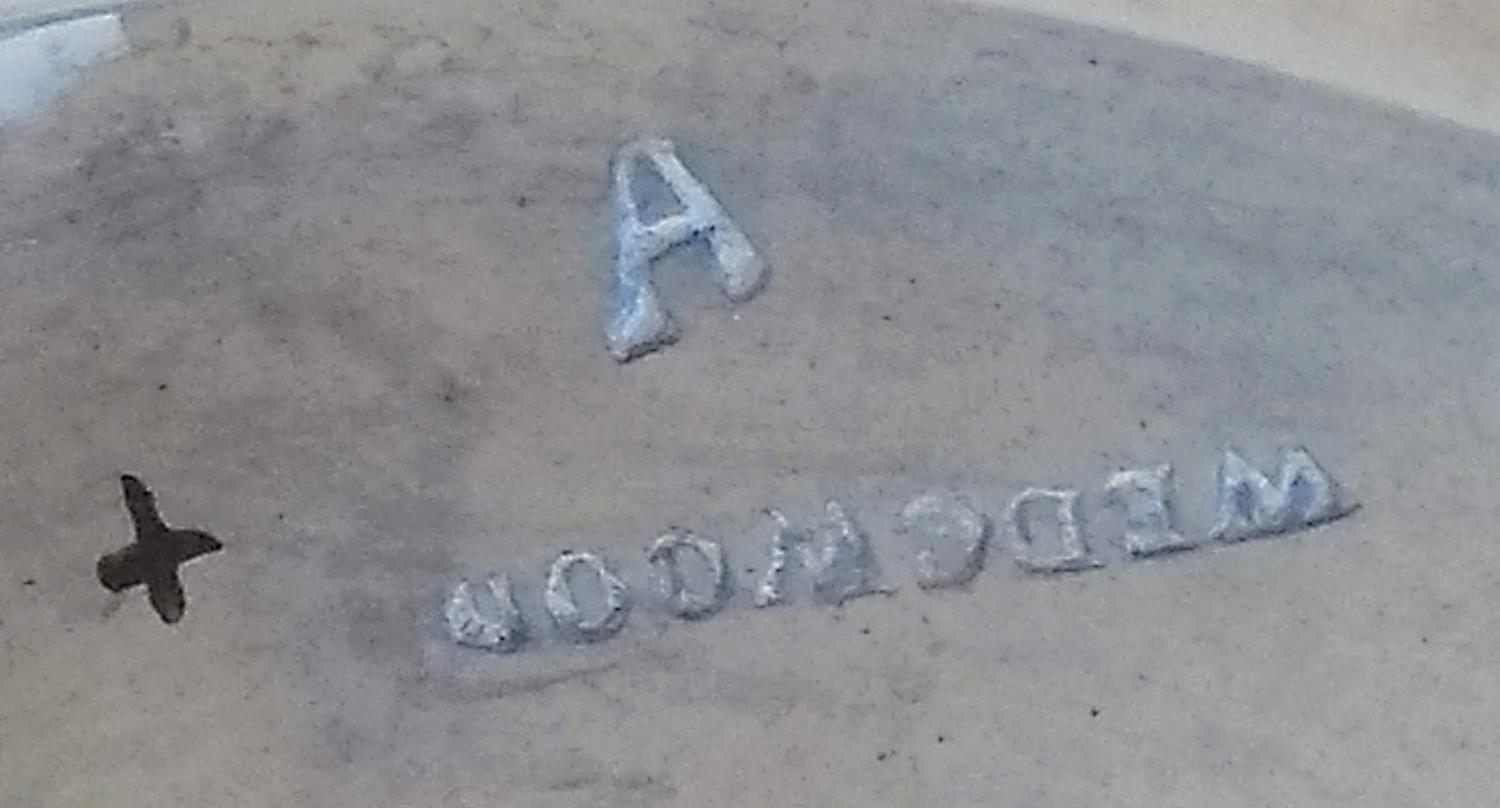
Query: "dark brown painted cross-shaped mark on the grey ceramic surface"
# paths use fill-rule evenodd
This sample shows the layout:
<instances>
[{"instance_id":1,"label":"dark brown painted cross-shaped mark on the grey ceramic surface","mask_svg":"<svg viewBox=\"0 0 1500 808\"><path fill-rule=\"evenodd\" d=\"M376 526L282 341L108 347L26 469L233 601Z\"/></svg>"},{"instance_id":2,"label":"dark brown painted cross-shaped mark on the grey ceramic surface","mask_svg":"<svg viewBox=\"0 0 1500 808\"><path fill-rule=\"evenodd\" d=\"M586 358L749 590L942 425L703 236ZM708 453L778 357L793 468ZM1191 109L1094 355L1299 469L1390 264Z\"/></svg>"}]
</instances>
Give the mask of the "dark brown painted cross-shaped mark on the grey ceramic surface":
<instances>
[{"instance_id":1,"label":"dark brown painted cross-shaped mark on the grey ceramic surface","mask_svg":"<svg viewBox=\"0 0 1500 808\"><path fill-rule=\"evenodd\" d=\"M99 559L99 583L111 592L146 585L148 600L162 622L174 624L188 609L188 595L177 577L177 567L224 549L218 538L202 531L168 528L156 511L156 496L138 478L120 477L124 507L135 522L135 541Z\"/></svg>"}]
</instances>

